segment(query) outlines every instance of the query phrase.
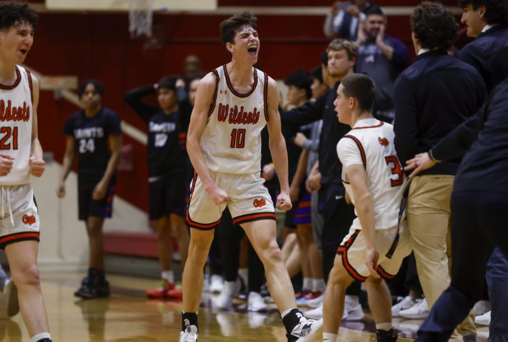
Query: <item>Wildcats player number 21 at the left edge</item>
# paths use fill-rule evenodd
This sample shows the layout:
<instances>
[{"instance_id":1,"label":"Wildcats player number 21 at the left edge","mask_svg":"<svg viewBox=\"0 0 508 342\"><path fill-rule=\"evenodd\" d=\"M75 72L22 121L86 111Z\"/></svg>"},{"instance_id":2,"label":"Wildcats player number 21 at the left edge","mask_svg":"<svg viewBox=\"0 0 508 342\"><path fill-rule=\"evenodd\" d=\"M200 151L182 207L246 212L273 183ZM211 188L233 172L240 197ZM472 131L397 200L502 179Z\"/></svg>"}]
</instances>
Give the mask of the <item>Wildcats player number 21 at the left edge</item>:
<instances>
[{"instance_id":1,"label":"Wildcats player number 21 at the left edge","mask_svg":"<svg viewBox=\"0 0 508 342\"><path fill-rule=\"evenodd\" d=\"M45 170L37 134L39 81L19 66L34 43L37 14L26 4L0 3L0 248L18 288L31 342L51 341L37 252L39 214L30 174Z\"/></svg>"}]
</instances>

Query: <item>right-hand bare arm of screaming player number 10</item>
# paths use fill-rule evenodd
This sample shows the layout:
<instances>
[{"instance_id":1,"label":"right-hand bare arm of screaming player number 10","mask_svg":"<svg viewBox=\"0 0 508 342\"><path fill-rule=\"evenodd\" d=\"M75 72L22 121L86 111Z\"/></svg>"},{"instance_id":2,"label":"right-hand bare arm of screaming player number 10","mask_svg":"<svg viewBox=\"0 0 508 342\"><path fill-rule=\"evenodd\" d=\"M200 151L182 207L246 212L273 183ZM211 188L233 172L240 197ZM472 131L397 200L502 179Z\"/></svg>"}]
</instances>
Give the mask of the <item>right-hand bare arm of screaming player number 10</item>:
<instances>
[{"instance_id":1,"label":"right-hand bare arm of screaming player number 10","mask_svg":"<svg viewBox=\"0 0 508 342\"><path fill-rule=\"evenodd\" d=\"M278 111L277 84L272 78L268 78L268 134L270 135L270 153L277 170L280 183L280 195L277 197L277 209L291 209L289 198L288 180L288 150L285 147L285 139L280 130L280 115Z\"/></svg>"}]
</instances>

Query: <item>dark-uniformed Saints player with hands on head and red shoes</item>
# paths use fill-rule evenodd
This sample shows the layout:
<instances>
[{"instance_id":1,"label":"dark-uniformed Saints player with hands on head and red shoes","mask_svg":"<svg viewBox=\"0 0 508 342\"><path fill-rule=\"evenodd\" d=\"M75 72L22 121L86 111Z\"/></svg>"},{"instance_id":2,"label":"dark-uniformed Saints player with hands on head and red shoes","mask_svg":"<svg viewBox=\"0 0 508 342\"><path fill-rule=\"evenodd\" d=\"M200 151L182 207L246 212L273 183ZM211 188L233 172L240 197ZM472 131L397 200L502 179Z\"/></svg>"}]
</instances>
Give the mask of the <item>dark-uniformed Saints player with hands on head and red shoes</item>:
<instances>
[{"instance_id":1,"label":"dark-uniformed Saints player with hands on head and red shoes","mask_svg":"<svg viewBox=\"0 0 508 342\"><path fill-rule=\"evenodd\" d=\"M159 107L141 100L155 92ZM172 232L177 237L183 266L189 245L185 224L185 189L192 178L185 151L190 104L183 80L177 77L164 77L156 85L133 89L124 98L148 125L149 216L155 221L157 230L162 286L146 291L146 295L150 298L181 298L182 293L176 288L172 270Z\"/></svg>"}]
</instances>

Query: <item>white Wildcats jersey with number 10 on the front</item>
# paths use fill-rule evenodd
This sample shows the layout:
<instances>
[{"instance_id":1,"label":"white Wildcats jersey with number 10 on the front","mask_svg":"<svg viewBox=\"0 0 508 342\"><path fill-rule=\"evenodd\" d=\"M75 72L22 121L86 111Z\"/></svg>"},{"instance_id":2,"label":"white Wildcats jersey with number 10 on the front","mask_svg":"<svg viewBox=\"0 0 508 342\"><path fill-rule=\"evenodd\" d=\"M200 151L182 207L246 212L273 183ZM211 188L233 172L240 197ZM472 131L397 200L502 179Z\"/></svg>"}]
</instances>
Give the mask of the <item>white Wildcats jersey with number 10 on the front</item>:
<instances>
[{"instance_id":1,"label":"white Wildcats jersey with number 10 on the front","mask_svg":"<svg viewBox=\"0 0 508 342\"><path fill-rule=\"evenodd\" d=\"M217 88L200 143L211 171L245 174L261 170L261 130L268 122L268 75L252 69L254 84L245 94L233 88L226 65L213 70Z\"/></svg>"}]
</instances>

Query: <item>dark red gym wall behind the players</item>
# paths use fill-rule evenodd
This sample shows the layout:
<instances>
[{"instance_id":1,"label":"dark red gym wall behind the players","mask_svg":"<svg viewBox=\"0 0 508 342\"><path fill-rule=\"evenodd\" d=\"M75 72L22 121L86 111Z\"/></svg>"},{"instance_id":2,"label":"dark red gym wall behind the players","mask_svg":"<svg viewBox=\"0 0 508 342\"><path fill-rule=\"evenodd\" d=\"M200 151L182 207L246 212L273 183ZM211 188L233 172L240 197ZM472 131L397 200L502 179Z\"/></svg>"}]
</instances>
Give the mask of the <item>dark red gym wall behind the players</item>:
<instances>
[{"instance_id":1,"label":"dark red gym wall behind the players","mask_svg":"<svg viewBox=\"0 0 508 342\"><path fill-rule=\"evenodd\" d=\"M36 2L43 2L36 0ZM275 4L274 4L275 3ZM419 1L378 0L383 6L414 6ZM444 2L443 2L444 3ZM455 6L455 0L446 2ZM325 0L246 0L241 6L329 6ZM219 0L219 6L238 6L234 0ZM289 10L289 9L288 9ZM226 16L155 15L154 33L160 49L145 49L142 40L131 40L126 14L40 14L35 43L25 63L46 75L77 75L79 81L96 78L105 86L104 105L116 110L123 120L146 131L146 125L123 102L125 91L153 84L163 75L181 74L184 58L200 56L203 70L228 61L220 44L218 24ZM328 42L321 16L258 16L261 38L259 64L275 79L297 68L310 70ZM388 18L388 34L410 44L408 16ZM155 101L155 98L152 99ZM155 102L154 102L155 103ZM61 162L65 150L63 123L77 108L66 100L54 100L41 92L39 135L46 151ZM124 135L124 144L134 151L134 170L118 173L117 194L135 206L148 209L145 146Z\"/></svg>"}]
</instances>

